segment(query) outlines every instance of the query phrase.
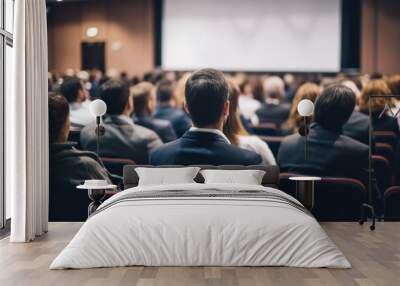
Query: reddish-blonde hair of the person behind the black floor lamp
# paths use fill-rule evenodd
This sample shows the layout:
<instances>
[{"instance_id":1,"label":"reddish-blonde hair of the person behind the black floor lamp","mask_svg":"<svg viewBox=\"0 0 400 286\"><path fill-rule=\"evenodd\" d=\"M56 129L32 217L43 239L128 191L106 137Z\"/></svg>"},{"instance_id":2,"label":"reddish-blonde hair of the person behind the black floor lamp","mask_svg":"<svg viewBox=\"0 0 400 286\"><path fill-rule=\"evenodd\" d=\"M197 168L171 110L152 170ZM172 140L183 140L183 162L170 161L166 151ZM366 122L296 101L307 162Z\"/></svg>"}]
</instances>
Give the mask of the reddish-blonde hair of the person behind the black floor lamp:
<instances>
[{"instance_id":1,"label":"reddish-blonde hair of the person behind the black floor lamp","mask_svg":"<svg viewBox=\"0 0 400 286\"><path fill-rule=\"evenodd\" d=\"M360 111L368 113L369 101L371 95L390 95L391 90L387 83L383 79L374 79L366 83L361 91L360 96ZM371 99L371 110L372 112L378 112L384 109L385 104L393 106L393 100L391 98L373 98Z\"/></svg>"}]
</instances>

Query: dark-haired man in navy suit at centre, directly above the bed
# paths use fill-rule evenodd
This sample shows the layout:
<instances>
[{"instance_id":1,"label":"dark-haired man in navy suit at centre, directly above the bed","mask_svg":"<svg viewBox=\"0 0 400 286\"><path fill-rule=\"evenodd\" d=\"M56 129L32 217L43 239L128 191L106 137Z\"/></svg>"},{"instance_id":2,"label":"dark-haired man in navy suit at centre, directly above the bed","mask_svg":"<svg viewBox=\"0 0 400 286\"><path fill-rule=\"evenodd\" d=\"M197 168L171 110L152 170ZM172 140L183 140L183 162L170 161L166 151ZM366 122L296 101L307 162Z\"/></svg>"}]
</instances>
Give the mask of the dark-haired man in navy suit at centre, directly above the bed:
<instances>
[{"instance_id":1,"label":"dark-haired man in navy suit at centre, directly above the bed","mask_svg":"<svg viewBox=\"0 0 400 286\"><path fill-rule=\"evenodd\" d=\"M182 138L150 153L150 164L253 165L261 157L231 145L222 133L229 114L228 84L224 75L213 69L193 73L186 82L187 109L194 127Z\"/></svg>"}]
</instances>

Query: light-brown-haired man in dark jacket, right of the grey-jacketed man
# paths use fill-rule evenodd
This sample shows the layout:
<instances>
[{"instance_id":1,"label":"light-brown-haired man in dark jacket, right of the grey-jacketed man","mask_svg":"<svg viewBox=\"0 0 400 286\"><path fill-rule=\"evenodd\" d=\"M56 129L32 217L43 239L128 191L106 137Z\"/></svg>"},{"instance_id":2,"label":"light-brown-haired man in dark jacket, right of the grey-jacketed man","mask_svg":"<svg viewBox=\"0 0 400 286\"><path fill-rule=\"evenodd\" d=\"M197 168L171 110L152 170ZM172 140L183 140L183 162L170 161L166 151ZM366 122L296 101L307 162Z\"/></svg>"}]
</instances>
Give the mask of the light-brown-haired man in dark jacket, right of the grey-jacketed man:
<instances>
[{"instance_id":1,"label":"light-brown-haired man in dark jacket, right of the grey-jacketed man","mask_svg":"<svg viewBox=\"0 0 400 286\"><path fill-rule=\"evenodd\" d=\"M131 88L134 102L134 121L136 124L149 128L160 136L163 142L177 139L171 122L152 117L156 109L156 95L154 85L150 82L141 82Z\"/></svg>"}]
</instances>

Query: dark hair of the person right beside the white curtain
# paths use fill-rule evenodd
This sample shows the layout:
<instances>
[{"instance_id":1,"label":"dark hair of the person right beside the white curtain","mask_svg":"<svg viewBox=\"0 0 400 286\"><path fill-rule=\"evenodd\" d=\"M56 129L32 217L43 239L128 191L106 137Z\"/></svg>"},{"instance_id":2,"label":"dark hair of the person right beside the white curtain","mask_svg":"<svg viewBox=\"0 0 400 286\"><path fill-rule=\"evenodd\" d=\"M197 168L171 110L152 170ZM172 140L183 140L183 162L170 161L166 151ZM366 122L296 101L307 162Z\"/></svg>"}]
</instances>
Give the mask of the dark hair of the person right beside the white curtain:
<instances>
[{"instance_id":1,"label":"dark hair of the person right beside the white curtain","mask_svg":"<svg viewBox=\"0 0 400 286\"><path fill-rule=\"evenodd\" d=\"M67 99L59 94L49 94L49 142L54 143L60 137L67 118L69 104Z\"/></svg>"}]
</instances>

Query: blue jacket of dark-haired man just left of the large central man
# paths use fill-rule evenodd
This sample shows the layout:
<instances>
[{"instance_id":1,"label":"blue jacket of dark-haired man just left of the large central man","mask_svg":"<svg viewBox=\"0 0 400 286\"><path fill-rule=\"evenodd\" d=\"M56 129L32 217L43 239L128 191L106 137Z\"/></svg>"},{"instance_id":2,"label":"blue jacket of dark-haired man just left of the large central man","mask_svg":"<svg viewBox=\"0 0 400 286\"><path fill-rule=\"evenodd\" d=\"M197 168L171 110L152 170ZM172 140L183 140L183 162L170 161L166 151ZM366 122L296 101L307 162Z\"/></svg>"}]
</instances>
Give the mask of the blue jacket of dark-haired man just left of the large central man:
<instances>
[{"instance_id":1,"label":"blue jacket of dark-haired man just left of the large central man","mask_svg":"<svg viewBox=\"0 0 400 286\"><path fill-rule=\"evenodd\" d=\"M185 112L170 106L160 106L153 117L170 121L178 137L192 126L192 121Z\"/></svg>"}]
</instances>

